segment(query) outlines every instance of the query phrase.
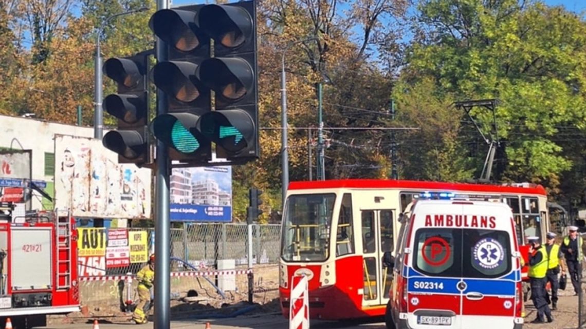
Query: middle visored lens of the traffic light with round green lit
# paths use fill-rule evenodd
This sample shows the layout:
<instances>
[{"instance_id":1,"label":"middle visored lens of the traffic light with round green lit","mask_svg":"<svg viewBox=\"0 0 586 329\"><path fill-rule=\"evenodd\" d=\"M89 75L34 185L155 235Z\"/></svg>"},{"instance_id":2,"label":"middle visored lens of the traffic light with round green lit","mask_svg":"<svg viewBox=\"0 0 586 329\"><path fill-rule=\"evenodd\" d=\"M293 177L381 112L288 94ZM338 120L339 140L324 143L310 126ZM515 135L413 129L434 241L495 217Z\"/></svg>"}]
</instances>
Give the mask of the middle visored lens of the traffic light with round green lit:
<instances>
[{"instance_id":1,"label":"middle visored lens of the traffic light with round green lit","mask_svg":"<svg viewBox=\"0 0 586 329\"><path fill-rule=\"evenodd\" d=\"M153 69L155 85L176 100L189 103L199 97L197 65L190 62L163 61Z\"/></svg>"}]
</instances>

